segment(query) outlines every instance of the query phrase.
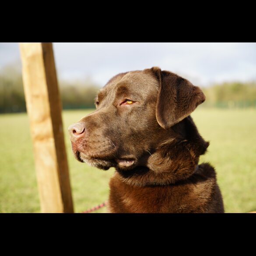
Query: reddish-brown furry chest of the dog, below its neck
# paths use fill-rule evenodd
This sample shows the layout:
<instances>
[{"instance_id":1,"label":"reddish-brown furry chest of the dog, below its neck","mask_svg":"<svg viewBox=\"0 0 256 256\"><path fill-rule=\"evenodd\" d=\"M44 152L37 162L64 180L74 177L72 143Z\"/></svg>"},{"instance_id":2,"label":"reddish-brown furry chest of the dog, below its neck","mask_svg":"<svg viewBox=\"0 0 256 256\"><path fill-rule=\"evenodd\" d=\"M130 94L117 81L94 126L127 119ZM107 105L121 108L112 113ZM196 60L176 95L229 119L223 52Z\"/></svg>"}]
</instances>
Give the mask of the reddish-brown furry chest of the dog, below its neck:
<instances>
[{"instance_id":1,"label":"reddish-brown furry chest of the dog, below its neck","mask_svg":"<svg viewBox=\"0 0 256 256\"><path fill-rule=\"evenodd\" d=\"M202 212L202 206L210 199L200 187L180 186L130 186L114 175L110 180L109 211L112 213L182 213ZM205 190L205 189L204 189Z\"/></svg>"}]
</instances>

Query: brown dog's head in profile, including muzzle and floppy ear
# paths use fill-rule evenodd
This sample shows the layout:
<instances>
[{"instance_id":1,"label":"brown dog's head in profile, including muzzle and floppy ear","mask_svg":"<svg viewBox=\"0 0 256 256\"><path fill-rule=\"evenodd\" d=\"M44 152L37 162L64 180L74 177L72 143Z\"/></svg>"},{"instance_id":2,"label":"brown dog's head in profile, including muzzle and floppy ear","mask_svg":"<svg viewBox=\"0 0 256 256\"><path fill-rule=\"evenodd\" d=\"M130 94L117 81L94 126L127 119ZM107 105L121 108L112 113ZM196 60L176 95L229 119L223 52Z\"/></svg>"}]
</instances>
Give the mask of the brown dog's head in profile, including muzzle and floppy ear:
<instances>
[{"instance_id":1,"label":"brown dog's head in profile, including muzzle and floppy ear","mask_svg":"<svg viewBox=\"0 0 256 256\"><path fill-rule=\"evenodd\" d=\"M200 88L158 67L118 74L99 91L96 110L69 127L74 155L105 170L152 165L160 148L186 141L185 123L196 129L181 121L204 100Z\"/></svg>"}]
</instances>

